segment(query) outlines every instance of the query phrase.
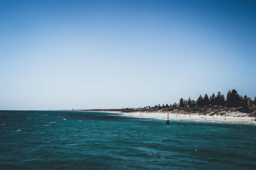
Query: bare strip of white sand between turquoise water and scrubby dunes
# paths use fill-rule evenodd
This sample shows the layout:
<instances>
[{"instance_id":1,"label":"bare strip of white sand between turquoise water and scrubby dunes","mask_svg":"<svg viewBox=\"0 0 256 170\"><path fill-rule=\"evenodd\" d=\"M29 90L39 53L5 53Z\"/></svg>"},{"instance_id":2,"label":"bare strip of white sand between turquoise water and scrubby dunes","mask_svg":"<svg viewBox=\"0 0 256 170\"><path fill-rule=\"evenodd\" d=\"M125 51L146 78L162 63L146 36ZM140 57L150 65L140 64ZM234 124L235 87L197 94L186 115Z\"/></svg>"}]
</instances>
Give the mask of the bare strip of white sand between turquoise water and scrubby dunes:
<instances>
[{"instance_id":1,"label":"bare strip of white sand between turquoise water and scrubby dunes","mask_svg":"<svg viewBox=\"0 0 256 170\"><path fill-rule=\"evenodd\" d=\"M118 113L118 112L116 112ZM155 118L155 119L164 119L167 120L167 113L125 113L134 117L142 118ZM226 120L225 120L226 118ZM182 115L182 114L169 114L169 120L184 120L184 121L215 121L215 122L237 122L237 123L252 123L256 124L254 117L233 117L233 116L203 116L203 115ZM252 120L252 121L251 121Z\"/></svg>"}]
</instances>

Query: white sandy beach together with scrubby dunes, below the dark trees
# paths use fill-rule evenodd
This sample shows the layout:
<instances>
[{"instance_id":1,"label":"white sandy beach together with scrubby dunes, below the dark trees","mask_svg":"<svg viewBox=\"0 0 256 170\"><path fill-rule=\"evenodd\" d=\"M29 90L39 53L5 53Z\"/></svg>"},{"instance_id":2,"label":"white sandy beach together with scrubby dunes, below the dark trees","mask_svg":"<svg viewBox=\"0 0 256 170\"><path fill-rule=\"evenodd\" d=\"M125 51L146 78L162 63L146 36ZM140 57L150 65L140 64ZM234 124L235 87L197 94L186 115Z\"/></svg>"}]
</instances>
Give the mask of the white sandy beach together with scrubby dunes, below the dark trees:
<instances>
[{"instance_id":1,"label":"white sandy beach together with scrubby dunes, below the dark trees","mask_svg":"<svg viewBox=\"0 0 256 170\"><path fill-rule=\"evenodd\" d=\"M182 121L204 121L204 122L231 122L256 124L256 108L219 108L214 110L201 108L165 108L165 109L93 109L80 111L122 113L133 117L182 120ZM226 119L225 119L226 118Z\"/></svg>"}]
</instances>

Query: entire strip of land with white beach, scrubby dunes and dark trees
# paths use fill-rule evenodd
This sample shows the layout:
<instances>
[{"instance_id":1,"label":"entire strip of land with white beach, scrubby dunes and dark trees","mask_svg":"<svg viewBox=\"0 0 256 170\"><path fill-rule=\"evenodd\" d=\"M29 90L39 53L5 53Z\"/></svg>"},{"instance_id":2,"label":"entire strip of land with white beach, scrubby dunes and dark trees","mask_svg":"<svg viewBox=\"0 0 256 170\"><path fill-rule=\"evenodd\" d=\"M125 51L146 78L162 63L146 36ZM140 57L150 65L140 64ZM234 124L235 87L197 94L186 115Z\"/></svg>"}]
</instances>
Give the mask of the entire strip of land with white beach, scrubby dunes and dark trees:
<instances>
[{"instance_id":1,"label":"entire strip of land with white beach, scrubby dunes and dark trees","mask_svg":"<svg viewBox=\"0 0 256 170\"><path fill-rule=\"evenodd\" d=\"M91 109L79 111L107 111L130 113L135 116L145 115L150 118L166 119L167 114L173 119L178 120L219 120L231 122L248 122L256 123L256 96L254 100L247 95L239 95L236 90L229 90L227 97L218 92L217 95L213 93L210 97L205 93L204 97L199 95L198 99L188 100L179 99L179 103L166 105L145 106L139 108L122 108L122 109ZM170 117L170 119L172 119ZM227 117L227 118L226 118ZM226 119L225 119L226 118ZM249 119L250 118L250 119ZM214 120L214 121L215 121Z\"/></svg>"}]
</instances>

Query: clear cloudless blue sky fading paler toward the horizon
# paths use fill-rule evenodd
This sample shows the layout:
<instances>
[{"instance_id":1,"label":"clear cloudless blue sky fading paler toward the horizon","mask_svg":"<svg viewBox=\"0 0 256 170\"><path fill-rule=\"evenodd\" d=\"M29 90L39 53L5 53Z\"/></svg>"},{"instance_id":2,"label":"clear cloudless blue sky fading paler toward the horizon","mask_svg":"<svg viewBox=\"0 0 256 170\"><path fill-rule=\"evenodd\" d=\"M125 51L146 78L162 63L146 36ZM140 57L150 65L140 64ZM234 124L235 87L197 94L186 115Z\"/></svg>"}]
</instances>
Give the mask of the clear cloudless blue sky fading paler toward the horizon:
<instances>
[{"instance_id":1,"label":"clear cloudless blue sky fading paler toward the horizon","mask_svg":"<svg viewBox=\"0 0 256 170\"><path fill-rule=\"evenodd\" d=\"M0 1L0 110L256 95L256 2Z\"/></svg>"}]
</instances>

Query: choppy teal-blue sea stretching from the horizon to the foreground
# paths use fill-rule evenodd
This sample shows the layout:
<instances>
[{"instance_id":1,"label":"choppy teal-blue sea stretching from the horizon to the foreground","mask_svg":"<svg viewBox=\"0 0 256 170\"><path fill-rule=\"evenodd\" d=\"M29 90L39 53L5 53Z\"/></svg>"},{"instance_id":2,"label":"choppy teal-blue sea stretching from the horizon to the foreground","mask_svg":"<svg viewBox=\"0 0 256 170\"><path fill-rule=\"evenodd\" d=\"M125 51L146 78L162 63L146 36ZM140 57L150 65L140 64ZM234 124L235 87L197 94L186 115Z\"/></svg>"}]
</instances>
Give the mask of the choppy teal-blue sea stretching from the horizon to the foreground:
<instances>
[{"instance_id":1,"label":"choppy teal-blue sea stretching from the horizon to the foreground","mask_svg":"<svg viewBox=\"0 0 256 170\"><path fill-rule=\"evenodd\" d=\"M0 169L256 169L256 125L165 123L120 113L0 111Z\"/></svg>"}]
</instances>

